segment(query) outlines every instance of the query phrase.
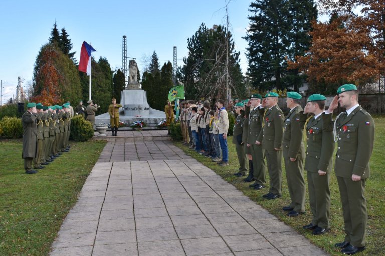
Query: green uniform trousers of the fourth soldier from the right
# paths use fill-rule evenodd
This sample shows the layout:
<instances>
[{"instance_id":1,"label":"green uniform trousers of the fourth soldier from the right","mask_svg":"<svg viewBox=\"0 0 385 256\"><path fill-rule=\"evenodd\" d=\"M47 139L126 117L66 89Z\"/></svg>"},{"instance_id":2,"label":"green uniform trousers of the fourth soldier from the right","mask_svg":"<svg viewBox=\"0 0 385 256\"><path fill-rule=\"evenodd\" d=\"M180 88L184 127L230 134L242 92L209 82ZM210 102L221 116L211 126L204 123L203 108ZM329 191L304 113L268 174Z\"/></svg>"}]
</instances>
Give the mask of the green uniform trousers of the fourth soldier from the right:
<instances>
[{"instance_id":1,"label":"green uniform trousers of the fourth soldier from the right","mask_svg":"<svg viewBox=\"0 0 385 256\"><path fill-rule=\"evenodd\" d=\"M265 150L265 155L267 170L269 171L270 176L269 193L282 195L282 151Z\"/></svg>"}]
</instances>

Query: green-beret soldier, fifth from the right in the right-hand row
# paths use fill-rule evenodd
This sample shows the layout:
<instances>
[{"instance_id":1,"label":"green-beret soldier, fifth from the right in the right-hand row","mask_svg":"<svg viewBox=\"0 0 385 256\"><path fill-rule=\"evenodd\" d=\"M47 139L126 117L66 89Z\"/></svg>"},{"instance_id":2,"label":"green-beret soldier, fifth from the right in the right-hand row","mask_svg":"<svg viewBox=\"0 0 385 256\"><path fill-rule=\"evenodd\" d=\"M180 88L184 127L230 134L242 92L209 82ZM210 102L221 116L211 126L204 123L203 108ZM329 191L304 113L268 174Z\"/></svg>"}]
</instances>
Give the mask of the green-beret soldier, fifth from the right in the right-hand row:
<instances>
[{"instance_id":1,"label":"green-beret soldier, fifth from the right in the right-hand row","mask_svg":"<svg viewBox=\"0 0 385 256\"><path fill-rule=\"evenodd\" d=\"M258 137L262 131L262 118L265 109L261 105L262 96L254 94L250 98L250 115L249 115L249 131L247 144L250 146L250 151L253 159L253 170L250 170L253 174L254 184L251 186L255 190L259 190L265 187L266 179L266 164L265 164L265 152L262 149L261 143L257 144ZM247 182L248 180L246 180Z\"/></svg>"}]
</instances>

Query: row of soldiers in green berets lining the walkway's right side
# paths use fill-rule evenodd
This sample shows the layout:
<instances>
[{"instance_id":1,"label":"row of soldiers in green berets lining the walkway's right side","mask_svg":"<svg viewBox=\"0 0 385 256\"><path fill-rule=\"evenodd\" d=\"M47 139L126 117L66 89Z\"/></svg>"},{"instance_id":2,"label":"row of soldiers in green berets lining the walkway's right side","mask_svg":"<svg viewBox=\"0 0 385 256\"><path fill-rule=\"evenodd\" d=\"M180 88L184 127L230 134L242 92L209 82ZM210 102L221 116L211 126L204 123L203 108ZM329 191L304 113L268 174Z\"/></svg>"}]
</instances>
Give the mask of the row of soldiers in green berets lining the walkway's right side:
<instances>
[{"instance_id":1,"label":"row of soldiers in green berets lining the walkway's right side","mask_svg":"<svg viewBox=\"0 0 385 256\"><path fill-rule=\"evenodd\" d=\"M342 85L337 94L326 111L325 96L309 96L302 109L301 95L288 92L286 105L290 111L286 116L279 108L278 94L274 92L267 93L264 99L254 94L246 105L235 104L237 117L233 142L240 168L234 175L245 176L248 161L249 175L244 181L255 181L250 187L260 190L265 187L267 168L270 187L262 197L280 198L283 158L291 203L282 210L287 216L296 217L305 213L306 170L312 221L303 228L311 230L313 235L322 235L330 230L329 180L337 142L334 171L346 236L335 246L344 254L355 254L365 249L367 210L364 191L373 150L374 121L358 104L359 93L355 85ZM338 103L346 108L346 112L332 120Z\"/></svg>"}]
</instances>

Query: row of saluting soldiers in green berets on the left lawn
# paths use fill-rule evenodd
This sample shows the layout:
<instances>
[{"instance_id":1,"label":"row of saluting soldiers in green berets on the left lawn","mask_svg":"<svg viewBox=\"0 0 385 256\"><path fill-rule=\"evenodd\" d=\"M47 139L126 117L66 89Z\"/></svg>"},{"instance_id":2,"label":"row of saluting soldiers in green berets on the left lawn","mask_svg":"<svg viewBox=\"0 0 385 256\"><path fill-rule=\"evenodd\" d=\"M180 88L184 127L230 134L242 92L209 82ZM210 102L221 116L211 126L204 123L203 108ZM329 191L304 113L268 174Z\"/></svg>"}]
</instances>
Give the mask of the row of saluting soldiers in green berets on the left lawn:
<instances>
[{"instance_id":1,"label":"row of saluting soldiers in green berets on the left lawn","mask_svg":"<svg viewBox=\"0 0 385 256\"><path fill-rule=\"evenodd\" d=\"M68 152L73 108L67 102L61 106L28 103L22 115L24 169L34 174L63 152Z\"/></svg>"}]
</instances>

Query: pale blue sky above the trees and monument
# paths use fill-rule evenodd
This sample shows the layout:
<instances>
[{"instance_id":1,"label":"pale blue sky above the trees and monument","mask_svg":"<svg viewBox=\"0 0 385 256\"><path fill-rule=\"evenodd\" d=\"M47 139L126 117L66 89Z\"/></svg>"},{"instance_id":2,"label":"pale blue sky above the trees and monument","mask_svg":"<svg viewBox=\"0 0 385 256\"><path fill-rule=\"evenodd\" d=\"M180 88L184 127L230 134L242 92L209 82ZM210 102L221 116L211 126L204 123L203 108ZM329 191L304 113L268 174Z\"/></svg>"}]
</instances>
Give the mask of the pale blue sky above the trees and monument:
<instances>
[{"instance_id":1,"label":"pale blue sky above the trees and monument","mask_svg":"<svg viewBox=\"0 0 385 256\"><path fill-rule=\"evenodd\" d=\"M229 0L227 0L229 2ZM231 0L228 4L230 31L235 48L241 52L242 71L247 69L242 39L248 27L251 0ZM0 0L0 80L2 102L16 97L18 76L26 88L32 81L36 56L48 42L53 25L66 29L79 61L86 41L107 58L113 70L122 67L122 36L127 36L127 57L136 58L142 73L144 56L156 51L159 63L173 64L177 47L177 65L187 56L187 38L202 23L208 28L225 24L225 0ZM127 59L128 63L129 59Z\"/></svg>"}]
</instances>

